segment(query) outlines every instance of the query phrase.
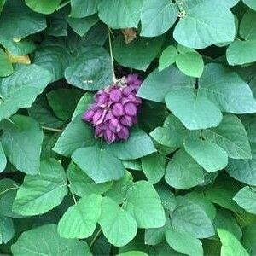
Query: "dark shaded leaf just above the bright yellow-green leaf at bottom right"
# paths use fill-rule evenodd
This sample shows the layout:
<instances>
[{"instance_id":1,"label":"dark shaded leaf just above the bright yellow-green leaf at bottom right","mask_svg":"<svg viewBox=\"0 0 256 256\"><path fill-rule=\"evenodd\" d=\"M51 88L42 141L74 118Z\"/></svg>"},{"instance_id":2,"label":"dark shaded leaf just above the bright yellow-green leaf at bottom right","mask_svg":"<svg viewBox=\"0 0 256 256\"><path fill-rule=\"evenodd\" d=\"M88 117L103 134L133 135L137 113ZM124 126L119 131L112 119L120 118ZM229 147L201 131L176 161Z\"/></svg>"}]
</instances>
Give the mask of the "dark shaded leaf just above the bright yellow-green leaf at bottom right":
<instances>
[{"instance_id":1,"label":"dark shaded leaf just above the bright yellow-green leaf at bottom right","mask_svg":"<svg viewBox=\"0 0 256 256\"><path fill-rule=\"evenodd\" d=\"M240 225L236 222L236 218L232 216L232 212L218 207L216 218L213 225L215 230L223 229L232 233L238 240L241 240L242 231Z\"/></svg>"}]
</instances>

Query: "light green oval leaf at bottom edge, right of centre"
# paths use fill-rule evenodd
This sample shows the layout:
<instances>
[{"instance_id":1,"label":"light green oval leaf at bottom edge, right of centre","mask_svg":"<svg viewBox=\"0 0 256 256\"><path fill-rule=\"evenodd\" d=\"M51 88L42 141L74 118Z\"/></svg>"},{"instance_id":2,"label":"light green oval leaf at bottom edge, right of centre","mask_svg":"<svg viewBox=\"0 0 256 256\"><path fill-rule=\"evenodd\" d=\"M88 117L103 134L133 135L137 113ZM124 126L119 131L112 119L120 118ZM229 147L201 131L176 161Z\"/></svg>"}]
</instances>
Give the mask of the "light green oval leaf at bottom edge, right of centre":
<instances>
[{"instance_id":1,"label":"light green oval leaf at bottom edge, right of centre","mask_svg":"<svg viewBox=\"0 0 256 256\"><path fill-rule=\"evenodd\" d=\"M188 254L190 256L202 256L203 247L201 241L196 239L194 236L188 233L177 231L177 230L167 230L166 231L166 241L174 250L180 253Z\"/></svg>"}]
</instances>

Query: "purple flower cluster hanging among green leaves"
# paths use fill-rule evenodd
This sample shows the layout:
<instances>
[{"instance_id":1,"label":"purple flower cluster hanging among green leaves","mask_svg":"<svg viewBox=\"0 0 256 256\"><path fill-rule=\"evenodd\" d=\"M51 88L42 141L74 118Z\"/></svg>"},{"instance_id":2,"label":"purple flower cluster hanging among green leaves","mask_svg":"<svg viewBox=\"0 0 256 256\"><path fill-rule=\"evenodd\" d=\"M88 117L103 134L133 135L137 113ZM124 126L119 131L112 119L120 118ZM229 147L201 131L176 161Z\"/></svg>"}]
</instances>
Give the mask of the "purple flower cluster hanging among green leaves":
<instances>
[{"instance_id":1,"label":"purple flower cluster hanging among green leaves","mask_svg":"<svg viewBox=\"0 0 256 256\"><path fill-rule=\"evenodd\" d=\"M137 123L142 103L136 96L141 84L137 74L130 74L96 93L95 102L83 116L84 121L94 125L96 137L104 137L107 143L129 137L129 127Z\"/></svg>"}]
</instances>

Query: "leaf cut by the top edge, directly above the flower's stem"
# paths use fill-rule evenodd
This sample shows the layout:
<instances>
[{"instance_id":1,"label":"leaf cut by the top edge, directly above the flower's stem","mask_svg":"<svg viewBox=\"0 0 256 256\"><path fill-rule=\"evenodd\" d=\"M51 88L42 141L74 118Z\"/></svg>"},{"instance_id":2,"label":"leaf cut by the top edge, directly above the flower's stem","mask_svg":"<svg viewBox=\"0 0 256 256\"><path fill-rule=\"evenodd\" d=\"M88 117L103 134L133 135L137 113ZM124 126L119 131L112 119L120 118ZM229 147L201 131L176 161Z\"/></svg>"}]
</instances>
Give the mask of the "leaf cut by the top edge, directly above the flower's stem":
<instances>
[{"instance_id":1,"label":"leaf cut by the top edge, directly above the flower's stem","mask_svg":"<svg viewBox=\"0 0 256 256\"><path fill-rule=\"evenodd\" d=\"M98 5L98 15L112 28L137 27L142 6L143 0L104 0Z\"/></svg>"}]
</instances>

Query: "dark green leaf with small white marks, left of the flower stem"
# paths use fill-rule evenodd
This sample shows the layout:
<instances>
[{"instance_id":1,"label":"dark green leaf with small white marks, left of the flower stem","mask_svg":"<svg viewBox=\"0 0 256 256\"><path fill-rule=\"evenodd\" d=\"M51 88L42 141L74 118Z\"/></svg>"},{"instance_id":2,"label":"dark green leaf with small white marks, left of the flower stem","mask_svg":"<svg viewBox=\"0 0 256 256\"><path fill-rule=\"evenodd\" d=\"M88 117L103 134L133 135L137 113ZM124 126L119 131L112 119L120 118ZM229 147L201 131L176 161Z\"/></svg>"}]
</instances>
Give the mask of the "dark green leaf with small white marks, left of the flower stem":
<instances>
[{"instance_id":1,"label":"dark green leaf with small white marks, left of the flower stem","mask_svg":"<svg viewBox=\"0 0 256 256\"><path fill-rule=\"evenodd\" d=\"M111 61L105 49L84 49L65 70L69 84L84 90L100 90L112 83Z\"/></svg>"}]
</instances>

